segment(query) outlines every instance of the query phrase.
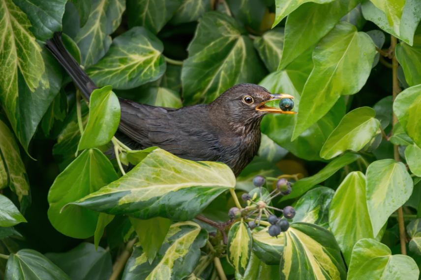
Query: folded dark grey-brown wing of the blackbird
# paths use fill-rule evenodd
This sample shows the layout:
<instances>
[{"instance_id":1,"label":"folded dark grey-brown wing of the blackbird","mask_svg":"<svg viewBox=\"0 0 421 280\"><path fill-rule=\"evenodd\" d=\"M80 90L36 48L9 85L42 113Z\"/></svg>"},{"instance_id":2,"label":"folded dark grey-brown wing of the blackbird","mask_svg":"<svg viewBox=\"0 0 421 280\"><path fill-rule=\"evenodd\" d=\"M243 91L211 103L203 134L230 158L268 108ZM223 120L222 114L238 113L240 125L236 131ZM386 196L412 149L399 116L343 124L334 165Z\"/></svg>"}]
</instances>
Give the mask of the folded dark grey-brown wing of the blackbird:
<instances>
[{"instance_id":1,"label":"folded dark grey-brown wing of the blackbird","mask_svg":"<svg viewBox=\"0 0 421 280\"><path fill-rule=\"evenodd\" d=\"M195 113L120 100L120 131L141 148L158 146L182 158L216 160L219 139L207 127L201 110ZM185 111L187 110L187 112Z\"/></svg>"}]
</instances>

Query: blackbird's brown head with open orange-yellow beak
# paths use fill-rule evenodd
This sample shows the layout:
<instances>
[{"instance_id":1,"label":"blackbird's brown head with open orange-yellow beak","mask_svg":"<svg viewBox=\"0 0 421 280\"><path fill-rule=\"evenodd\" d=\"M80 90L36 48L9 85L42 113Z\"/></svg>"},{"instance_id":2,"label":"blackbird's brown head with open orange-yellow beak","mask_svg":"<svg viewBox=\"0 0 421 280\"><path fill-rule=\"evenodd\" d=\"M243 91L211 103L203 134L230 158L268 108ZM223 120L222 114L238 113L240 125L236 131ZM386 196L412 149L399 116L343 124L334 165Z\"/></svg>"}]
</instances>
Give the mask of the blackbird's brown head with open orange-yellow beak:
<instances>
[{"instance_id":1,"label":"blackbird's brown head with open orange-yellow beak","mask_svg":"<svg viewBox=\"0 0 421 280\"><path fill-rule=\"evenodd\" d=\"M288 94L271 94L266 88L257 84L237 84L216 98L210 107L226 117L227 122L247 125L260 123L267 113L295 114L296 112L266 105L269 101L284 98L294 97Z\"/></svg>"}]
</instances>

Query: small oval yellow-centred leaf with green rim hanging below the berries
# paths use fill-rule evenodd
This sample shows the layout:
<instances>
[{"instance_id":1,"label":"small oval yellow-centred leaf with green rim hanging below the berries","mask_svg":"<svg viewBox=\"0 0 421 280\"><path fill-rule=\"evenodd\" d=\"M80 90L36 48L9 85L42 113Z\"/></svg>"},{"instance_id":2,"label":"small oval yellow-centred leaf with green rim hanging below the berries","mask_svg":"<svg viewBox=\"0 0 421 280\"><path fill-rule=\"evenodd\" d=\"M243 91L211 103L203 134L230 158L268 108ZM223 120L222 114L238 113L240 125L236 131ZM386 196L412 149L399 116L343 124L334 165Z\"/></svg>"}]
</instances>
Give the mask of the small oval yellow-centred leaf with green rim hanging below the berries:
<instances>
[{"instance_id":1,"label":"small oval yellow-centred leaf with green rim hanging below the berries","mask_svg":"<svg viewBox=\"0 0 421 280\"><path fill-rule=\"evenodd\" d=\"M227 256L236 269L236 273L244 275L252 248L251 232L247 224L237 222L228 232Z\"/></svg>"}]
</instances>

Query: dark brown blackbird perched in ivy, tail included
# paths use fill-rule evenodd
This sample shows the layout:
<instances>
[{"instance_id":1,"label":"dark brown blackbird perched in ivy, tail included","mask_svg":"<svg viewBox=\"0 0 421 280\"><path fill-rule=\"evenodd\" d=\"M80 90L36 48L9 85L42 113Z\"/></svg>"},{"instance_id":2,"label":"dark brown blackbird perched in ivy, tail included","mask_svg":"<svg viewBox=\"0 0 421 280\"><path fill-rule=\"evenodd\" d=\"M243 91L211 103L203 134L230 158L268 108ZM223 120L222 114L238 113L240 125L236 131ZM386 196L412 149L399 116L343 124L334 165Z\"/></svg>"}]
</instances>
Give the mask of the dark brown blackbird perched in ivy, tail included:
<instances>
[{"instance_id":1,"label":"dark brown blackbird perched in ivy, tail included","mask_svg":"<svg viewBox=\"0 0 421 280\"><path fill-rule=\"evenodd\" d=\"M46 47L89 101L97 87L66 50L61 33L56 32L47 40ZM237 84L209 104L179 109L119 97L121 114L117 134L132 149L158 146L183 159L222 162L238 176L258 152L263 116L295 113L266 105L285 98L294 97L271 94L257 84Z\"/></svg>"}]
</instances>

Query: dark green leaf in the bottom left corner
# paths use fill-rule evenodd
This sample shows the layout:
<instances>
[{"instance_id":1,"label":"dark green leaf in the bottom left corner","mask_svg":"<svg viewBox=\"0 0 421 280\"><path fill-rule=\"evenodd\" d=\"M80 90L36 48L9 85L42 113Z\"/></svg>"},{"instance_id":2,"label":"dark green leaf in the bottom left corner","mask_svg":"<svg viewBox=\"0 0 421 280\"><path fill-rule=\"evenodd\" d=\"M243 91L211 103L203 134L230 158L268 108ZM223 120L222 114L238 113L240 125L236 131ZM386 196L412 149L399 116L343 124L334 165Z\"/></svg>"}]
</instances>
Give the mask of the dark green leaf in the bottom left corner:
<instances>
[{"instance_id":1,"label":"dark green leaf in the bottom left corner","mask_svg":"<svg viewBox=\"0 0 421 280\"><path fill-rule=\"evenodd\" d=\"M15 279L69 280L70 278L43 254L22 249L10 254L6 264L4 280Z\"/></svg>"}]
</instances>

